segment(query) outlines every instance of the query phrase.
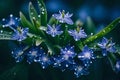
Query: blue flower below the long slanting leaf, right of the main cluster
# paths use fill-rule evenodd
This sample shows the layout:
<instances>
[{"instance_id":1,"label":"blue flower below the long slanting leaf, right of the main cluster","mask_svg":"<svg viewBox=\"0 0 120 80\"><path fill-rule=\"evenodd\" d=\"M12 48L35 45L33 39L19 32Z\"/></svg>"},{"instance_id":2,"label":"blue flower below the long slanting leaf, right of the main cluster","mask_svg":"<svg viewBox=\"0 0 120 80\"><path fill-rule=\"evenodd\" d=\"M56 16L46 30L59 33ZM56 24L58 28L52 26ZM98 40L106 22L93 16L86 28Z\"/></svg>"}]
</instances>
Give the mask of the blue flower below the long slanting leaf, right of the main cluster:
<instances>
[{"instance_id":1,"label":"blue flower below the long slanting leaf, right of the main cluster","mask_svg":"<svg viewBox=\"0 0 120 80\"><path fill-rule=\"evenodd\" d=\"M112 40L108 40L107 38L103 37L102 42L98 43L98 46L102 49L103 56L107 55L107 51L111 53L115 53L115 43Z\"/></svg>"}]
</instances>

